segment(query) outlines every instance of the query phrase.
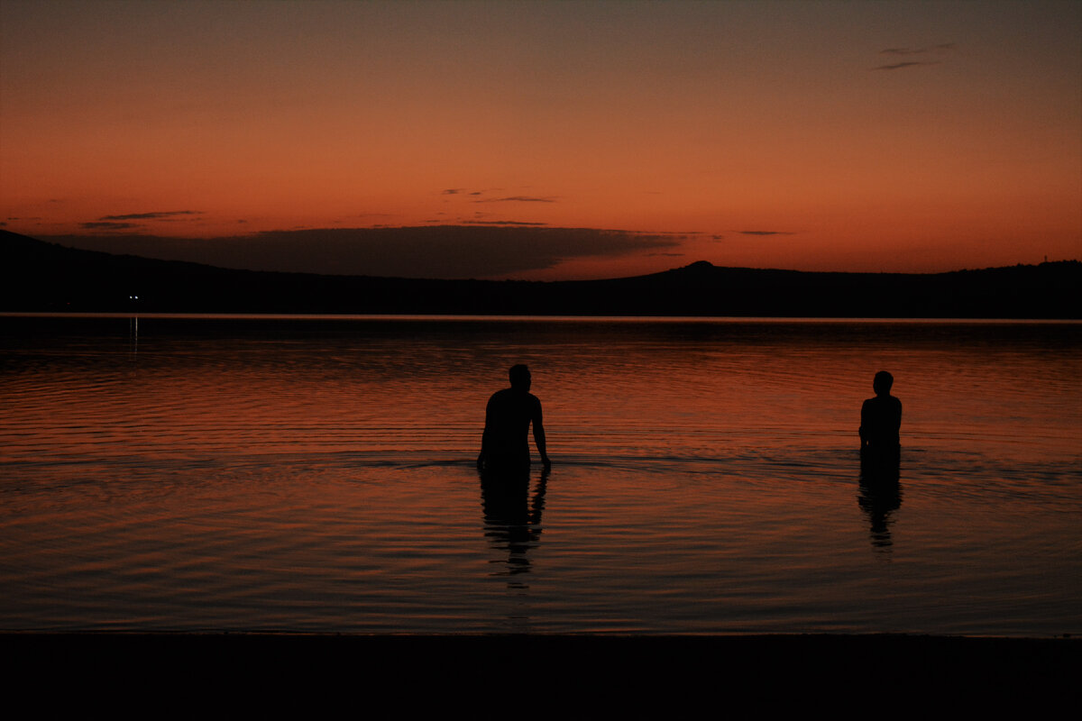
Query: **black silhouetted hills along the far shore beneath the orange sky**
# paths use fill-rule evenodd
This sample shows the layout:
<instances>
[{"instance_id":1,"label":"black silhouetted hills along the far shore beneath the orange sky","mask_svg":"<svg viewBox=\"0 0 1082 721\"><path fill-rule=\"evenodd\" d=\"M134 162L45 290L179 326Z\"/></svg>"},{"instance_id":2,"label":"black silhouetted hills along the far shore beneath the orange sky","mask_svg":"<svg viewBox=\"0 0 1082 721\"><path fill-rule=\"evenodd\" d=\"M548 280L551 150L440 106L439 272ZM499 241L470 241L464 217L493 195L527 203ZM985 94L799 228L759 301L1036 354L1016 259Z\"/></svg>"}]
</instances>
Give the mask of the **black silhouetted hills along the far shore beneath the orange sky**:
<instances>
[{"instance_id":1,"label":"black silhouetted hills along the far shore beneath the orange sky","mask_svg":"<svg viewBox=\"0 0 1082 721\"><path fill-rule=\"evenodd\" d=\"M1082 263L944 273L721 268L588 281L229 270L0 230L0 311L1082 318ZM138 296L138 299L133 299Z\"/></svg>"}]
</instances>

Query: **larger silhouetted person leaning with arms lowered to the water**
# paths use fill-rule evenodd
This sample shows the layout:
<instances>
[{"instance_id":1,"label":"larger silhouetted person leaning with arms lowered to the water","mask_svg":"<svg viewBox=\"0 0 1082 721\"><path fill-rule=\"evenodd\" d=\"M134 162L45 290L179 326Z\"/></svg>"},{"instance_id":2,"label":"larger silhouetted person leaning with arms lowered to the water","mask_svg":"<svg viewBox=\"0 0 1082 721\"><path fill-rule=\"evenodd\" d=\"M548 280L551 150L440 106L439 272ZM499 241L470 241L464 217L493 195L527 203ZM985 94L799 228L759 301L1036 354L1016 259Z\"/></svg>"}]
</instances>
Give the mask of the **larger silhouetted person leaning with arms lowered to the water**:
<instances>
[{"instance_id":1,"label":"larger silhouetted person leaning with arms lowered to the water","mask_svg":"<svg viewBox=\"0 0 1082 721\"><path fill-rule=\"evenodd\" d=\"M541 423L541 401L530 392L530 370L514 365L507 374L511 388L492 393L485 409L485 433L480 441L477 467L487 470L515 470L530 465L530 424L541 463L549 467L549 452Z\"/></svg>"}]
</instances>

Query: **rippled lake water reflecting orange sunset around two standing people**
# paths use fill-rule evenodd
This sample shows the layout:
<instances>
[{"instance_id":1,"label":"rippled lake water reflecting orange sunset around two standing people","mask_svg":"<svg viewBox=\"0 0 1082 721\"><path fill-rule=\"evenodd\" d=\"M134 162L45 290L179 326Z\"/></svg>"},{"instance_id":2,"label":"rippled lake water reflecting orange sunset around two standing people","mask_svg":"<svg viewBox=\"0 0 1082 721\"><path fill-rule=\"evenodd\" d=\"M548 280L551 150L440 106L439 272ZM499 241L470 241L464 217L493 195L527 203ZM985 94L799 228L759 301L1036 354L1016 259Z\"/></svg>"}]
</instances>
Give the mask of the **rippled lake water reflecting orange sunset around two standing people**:
<instances>
[{"instance_id":1,"label":"rippled lake water reflecting orange sunset around two standing people","mask_svg":"<svg viewBox=\"0 0 1082 721\"><path fill-rule=\"evenodd\" d=\"M1079 323L0 331L0 630L1082 632ZM493 509L518 362L553 468ZM901 463L862 484L883 369Z\"/></svg>"}]
</instances>

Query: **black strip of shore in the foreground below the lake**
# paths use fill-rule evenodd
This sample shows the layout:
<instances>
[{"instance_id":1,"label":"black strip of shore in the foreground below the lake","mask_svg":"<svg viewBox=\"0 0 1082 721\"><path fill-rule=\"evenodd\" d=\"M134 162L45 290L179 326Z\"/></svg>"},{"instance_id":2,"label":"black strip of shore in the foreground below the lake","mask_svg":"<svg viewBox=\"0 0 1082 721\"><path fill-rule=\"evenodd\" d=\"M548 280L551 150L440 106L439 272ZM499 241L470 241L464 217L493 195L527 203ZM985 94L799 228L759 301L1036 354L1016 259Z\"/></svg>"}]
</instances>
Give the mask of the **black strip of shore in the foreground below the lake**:
<instances>
[{"instance_id":1,"label":"black strip of shore in the foreground below the lake","mask_svg":"<svg viewBox=\"0 0 1082 721\"><path fill-rule=\"evenodd\" d=\"M381 718L370 706L378 699L401 713L594 718L682 717L702 704L712 716L738 711L734 704L872 717L947 703L1033 710L1082 697L1073 638L9 632L0 653L14 691L44 680L84 699L120 703L137 692L168 708L228 698L285 712L353 698L355 711Z\"/></svg>"}]
</instances>

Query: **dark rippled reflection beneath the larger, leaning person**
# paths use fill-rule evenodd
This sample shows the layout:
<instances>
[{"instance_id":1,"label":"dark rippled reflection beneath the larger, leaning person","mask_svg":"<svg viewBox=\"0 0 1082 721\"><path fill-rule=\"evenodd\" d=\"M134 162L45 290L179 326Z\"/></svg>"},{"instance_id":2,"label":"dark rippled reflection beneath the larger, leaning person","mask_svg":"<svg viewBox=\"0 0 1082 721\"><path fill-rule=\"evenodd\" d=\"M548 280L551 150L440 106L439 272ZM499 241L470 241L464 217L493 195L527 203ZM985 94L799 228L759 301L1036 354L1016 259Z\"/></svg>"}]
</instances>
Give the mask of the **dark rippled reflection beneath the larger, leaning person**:
<instances>
[{"instance_id":1,"label":"dark rippled reflection beneath the larger, leaning person","mask_svg":"<svg viewBox=\"0 0 1082 721\"><path fill-rule=\"evenodd\" d=\"M507 575L510 587L526 587L515 576L530 570L527 551L537 546L541 536L541 511L544 509L549 473L550 468L543 467L530 497L529 466L478 472L485 536L501 556L506 553L506 561L492 561L505 564L493 575Z\"/></svg>"}]
</instances>

